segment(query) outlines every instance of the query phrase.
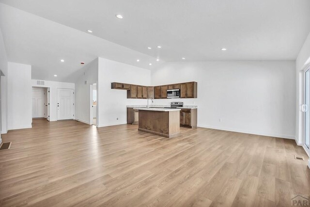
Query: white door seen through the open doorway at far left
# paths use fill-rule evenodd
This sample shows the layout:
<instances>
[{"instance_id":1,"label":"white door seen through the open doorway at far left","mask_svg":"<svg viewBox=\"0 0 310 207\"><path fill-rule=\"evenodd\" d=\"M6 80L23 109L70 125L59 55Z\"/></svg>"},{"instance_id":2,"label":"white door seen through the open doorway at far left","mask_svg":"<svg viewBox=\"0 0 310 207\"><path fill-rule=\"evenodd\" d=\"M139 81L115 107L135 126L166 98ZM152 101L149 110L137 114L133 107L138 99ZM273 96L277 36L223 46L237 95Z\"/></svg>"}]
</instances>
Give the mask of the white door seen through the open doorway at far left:
<instances>
[{"instance_id":1,"label":"white door seen through the open doorway at far left","mask_svg":"<svg viewBox=\"0 0 310 207\"><path fill-rule=\"evenodd\" d=\"M45 90L44 89L32 89L32 118L44 118L45 117Z\"/></svg>"}]
</instances>

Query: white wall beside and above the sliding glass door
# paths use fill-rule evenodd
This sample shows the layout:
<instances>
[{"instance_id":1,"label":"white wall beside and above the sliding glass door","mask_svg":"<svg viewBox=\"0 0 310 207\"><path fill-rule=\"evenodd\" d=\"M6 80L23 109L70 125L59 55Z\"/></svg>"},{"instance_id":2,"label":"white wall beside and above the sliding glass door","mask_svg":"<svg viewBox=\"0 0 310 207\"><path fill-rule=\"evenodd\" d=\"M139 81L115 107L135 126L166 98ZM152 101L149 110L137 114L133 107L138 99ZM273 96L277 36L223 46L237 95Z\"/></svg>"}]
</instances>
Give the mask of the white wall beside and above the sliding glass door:
<instances>
[{"instance_id":1,"label":"white wall beside and above the sliding glass door","mask_svg":"<svg viewBox=\"0 0 310 207\"><path fill-rule=\"evenodd\" d=\"M304 103L304 69L310 65L310 33L296 58L296 143L303 143L304 113L301 106Z\"/></svg>"}]
</instances>

